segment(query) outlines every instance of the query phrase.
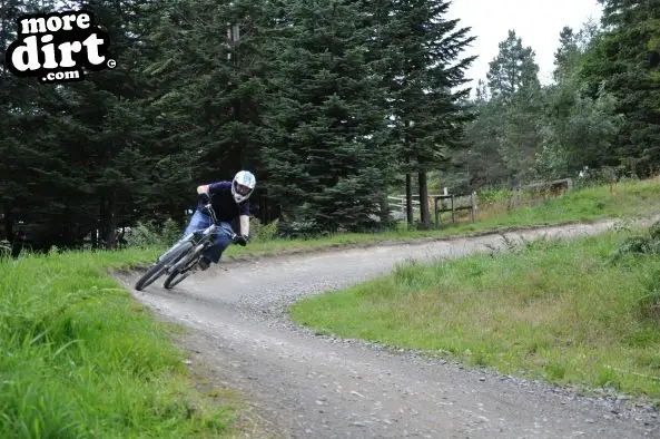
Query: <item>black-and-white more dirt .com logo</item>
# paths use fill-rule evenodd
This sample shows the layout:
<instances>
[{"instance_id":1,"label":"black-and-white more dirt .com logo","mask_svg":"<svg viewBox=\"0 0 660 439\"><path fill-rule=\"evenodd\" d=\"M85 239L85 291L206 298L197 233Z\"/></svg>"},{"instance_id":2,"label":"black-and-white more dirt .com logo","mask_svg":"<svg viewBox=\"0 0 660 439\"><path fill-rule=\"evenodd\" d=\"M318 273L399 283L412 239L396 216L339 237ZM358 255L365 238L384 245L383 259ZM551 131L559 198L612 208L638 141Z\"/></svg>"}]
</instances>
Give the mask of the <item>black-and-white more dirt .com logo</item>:
<instances>
[{"instance_id":1,"label":"black-and-white more dirt .com logo","mask_svg":"<svg viewBox=\"0 0 660 439\"><path fill-rule=\"evenodd\" d=\"M93 25L88 11L21 16L18 39L7 49L7 67L13 75L37 77L41 84L85 79L85 69L114 69L108 33Z\"/></svg>"}]
</instances>

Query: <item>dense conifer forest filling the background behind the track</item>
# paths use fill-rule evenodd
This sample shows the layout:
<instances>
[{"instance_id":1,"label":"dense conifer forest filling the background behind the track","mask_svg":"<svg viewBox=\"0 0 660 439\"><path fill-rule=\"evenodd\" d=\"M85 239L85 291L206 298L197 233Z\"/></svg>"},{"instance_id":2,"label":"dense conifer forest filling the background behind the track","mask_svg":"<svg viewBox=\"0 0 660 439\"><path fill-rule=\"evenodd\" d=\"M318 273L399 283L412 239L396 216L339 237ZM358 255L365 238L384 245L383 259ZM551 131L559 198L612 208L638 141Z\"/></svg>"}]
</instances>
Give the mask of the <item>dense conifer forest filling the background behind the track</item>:
<instances>
[{"instance_id":1,"label":"dense conifer forest filling the background behind the track","mask_svg":"<svg viewBox=\"0 0 660 439\"><path fill-rule=\"evenodd\" d=\"M183 227L195 188L239 169L284 236L383 230L392 194L656 174L660 1L599 2L558 29L542 84L515 29L470 78L480 36L444 0L0 0L0 240L115 248L138 222ZM10 71L19 17L81 9L116 68Z\"/></svg>"}]
</instances>

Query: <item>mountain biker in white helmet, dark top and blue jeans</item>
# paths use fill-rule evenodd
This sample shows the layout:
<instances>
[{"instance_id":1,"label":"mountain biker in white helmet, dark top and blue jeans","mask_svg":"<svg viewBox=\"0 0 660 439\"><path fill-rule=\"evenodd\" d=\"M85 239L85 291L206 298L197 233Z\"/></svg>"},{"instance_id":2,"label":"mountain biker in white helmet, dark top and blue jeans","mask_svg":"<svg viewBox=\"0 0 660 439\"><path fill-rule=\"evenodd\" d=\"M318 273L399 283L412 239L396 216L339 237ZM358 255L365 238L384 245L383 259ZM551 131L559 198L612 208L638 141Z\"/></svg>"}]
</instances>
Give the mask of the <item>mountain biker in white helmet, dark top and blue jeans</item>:
<instances>
[{"instance_id":1,"label":"mountain biker in white helmet, dark top and blue jeans","mask_svg":"<svg viewBox=\"0 0 660 439\"><path fill-rule=\"evenodd\" d=\"M249 196L255 191L257 181L249 170L238 172L232 182L220 181L201 185L197 187L197 194L201 195L203 201L197 204L195 214L190 218L184 236L197 230L204 230L211 225L211 218L204 213L203 207L210 199L211 206L216 213L219 223L225 224L232 228L230 223L238 216L240 220L240 234L235 238L235 242L245 246L249 235ZM205 203L206 202L206 203ZM220 261L220 256L229 245L229 236L219 233L215 243L206 248L199 258L199 269L206 270L211 262L216 264Z\"/></svg>"}]
</instances>

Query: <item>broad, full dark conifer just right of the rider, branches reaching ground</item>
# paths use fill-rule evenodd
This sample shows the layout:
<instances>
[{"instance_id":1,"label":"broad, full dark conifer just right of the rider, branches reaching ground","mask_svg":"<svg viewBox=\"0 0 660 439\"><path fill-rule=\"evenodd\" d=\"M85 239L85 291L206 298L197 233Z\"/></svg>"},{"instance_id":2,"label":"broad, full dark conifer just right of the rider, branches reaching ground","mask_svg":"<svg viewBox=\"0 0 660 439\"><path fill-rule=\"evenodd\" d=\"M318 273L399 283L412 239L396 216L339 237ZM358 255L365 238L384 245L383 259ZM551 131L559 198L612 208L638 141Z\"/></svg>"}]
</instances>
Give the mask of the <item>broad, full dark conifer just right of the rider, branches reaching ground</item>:
<instances>
[{"instance_id":1,"label":"broad, full dark conifer just right of the rider, branches reaching ground","mask_svg":"<svg viewBox=\"0 0 660 439\"><path fill-rule=\"evenodd\" d=\"M311 230L367 226L388 183L386 113L365 42L371 28L349 1L298 0L287 21L273 38L268 191L286 220Z\"/></svg>"}]
</instances>

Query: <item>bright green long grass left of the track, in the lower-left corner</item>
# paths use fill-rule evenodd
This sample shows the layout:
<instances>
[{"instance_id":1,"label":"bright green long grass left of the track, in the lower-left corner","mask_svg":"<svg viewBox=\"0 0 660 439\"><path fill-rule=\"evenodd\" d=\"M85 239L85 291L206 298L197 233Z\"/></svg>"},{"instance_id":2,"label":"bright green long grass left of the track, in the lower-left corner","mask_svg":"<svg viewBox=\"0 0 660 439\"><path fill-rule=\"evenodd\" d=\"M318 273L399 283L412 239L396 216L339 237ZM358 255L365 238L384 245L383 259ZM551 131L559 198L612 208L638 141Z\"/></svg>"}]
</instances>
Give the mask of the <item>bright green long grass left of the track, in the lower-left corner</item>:
<instances>
[{"instance_id":1,"label":"bright green long grass left of the track, in the lower-left corner","mask_svg":"<svg viewBox=\"0 0 660 439\"><path fill-rule=\"evenodd\" d=\"M0 262L0 437L232 433L235 408L204 394L157 322L107 275L140 251Z\"/></svg>"}]
</instances>

